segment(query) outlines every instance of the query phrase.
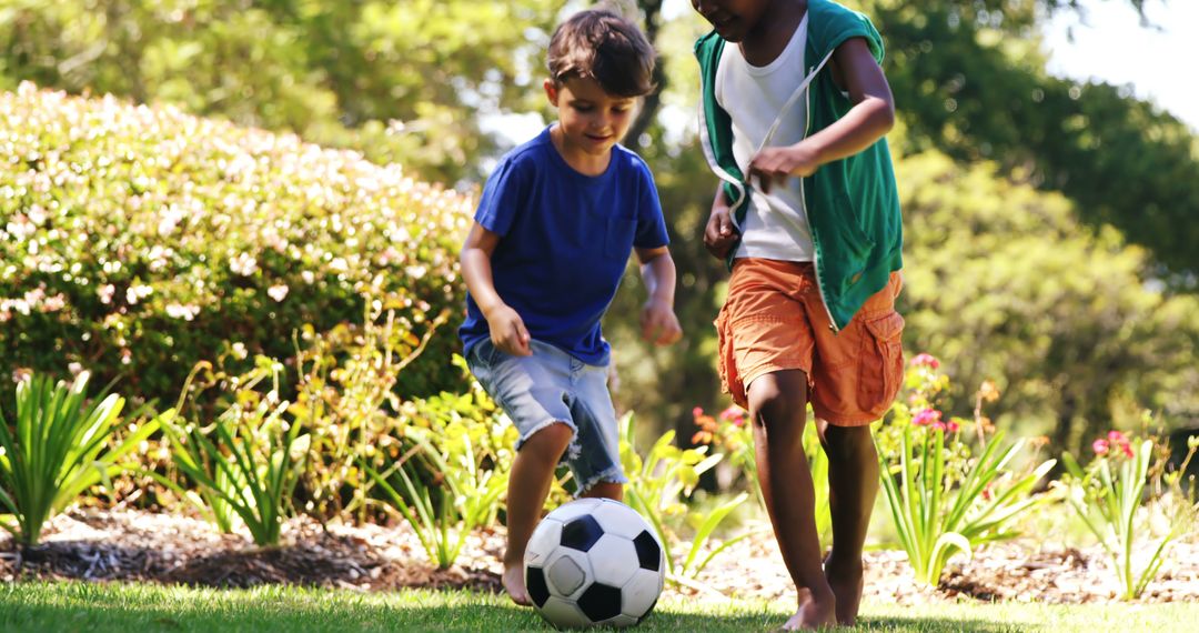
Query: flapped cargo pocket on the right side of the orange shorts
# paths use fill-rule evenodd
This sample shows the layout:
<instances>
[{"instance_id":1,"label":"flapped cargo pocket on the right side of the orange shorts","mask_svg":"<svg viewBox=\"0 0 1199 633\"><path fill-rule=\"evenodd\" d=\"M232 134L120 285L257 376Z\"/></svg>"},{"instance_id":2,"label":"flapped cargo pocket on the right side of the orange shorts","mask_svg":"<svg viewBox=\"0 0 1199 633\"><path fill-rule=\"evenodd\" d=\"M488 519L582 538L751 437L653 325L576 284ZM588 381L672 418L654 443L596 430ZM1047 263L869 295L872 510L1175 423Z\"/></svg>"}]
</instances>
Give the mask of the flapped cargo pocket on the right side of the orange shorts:
<instances>
[{"instance_id":1,"label":"flapped cargo pocket on the right side of the orange shorts","mask_svg":"<svg viewBox=\"0 0 1199 633\"><path fill-rule=\"evenodd\" d=\"M903 379L903 316L891 311L867 318L863 325L857 404L863 412L881 416Z\"/></svg>"}]
</instances>

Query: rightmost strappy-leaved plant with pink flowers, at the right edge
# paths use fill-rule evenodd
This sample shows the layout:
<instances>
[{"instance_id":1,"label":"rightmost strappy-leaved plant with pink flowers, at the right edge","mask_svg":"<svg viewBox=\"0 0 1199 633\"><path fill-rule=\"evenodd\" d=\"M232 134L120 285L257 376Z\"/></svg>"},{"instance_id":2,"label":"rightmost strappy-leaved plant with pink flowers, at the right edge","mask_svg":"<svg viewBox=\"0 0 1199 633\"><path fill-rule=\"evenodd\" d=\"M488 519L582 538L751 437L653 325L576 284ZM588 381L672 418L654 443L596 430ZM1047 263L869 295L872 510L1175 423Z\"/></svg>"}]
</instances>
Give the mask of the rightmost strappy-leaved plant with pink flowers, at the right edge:
<instances>
[{"instance_id":1,"label":"rightmost strappy-leaved plant with pink flowers, at the right edge","mask_svg":"<svg viewBox=\"0 0 1199 633\"><path fill-rule=\"evenodd\" d=\"M1062 456L1070 478L1058 484L1067 489L1071 507L1110 556L1125 598L1145 591L1165 562L1170 543L1191 531L1199 517L1199 504L1181 486L1199 438L1187 445L1182 466L1173 472L1165 470L1168 446L1153 436L1138 439L1119 430L1091 444L1095 459L1085 470L1074 456ZM1153 484L1149 494L1147 483ZM1155 517L1164 518L1165 525L1155 526Z\"/></svg>"}]
</instances>

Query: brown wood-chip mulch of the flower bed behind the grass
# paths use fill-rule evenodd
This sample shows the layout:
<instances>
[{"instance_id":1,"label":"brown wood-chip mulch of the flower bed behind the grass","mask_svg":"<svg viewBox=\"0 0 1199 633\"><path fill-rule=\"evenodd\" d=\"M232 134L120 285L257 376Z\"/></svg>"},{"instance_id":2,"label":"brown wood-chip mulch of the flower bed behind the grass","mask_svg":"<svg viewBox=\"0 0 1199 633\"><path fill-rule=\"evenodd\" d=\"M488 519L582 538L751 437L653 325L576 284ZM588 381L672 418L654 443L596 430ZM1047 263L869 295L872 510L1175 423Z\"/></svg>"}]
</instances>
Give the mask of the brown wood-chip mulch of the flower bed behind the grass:
<instances>
[{"instance_id":1,"label":"brown wood-chip mulch of the flower bed behind the grass","mask_svg":"<svg viewBox=\"0 0 1199 633\"><path fill-rule=\"evenodd\" d=\"M55 517L42 544L20 549L0 539L0 579L89 580L251 587L288 584L359 591L409 587L499 592L502 529L468 537L448 569L429 562L406 525L327 525L289 522L278 547L246 535L221 535L195 518L138 510L79 508ZM915 581L902 551L866 555L866 599L899 604L935 601L1014 601L1087 604L1119 601L1110 562L1097 548L1007 543L954 560L940 586ZM667 595L723 601L794 601L794 589L769 529L718 554L687 586ZM1199 602L1199 543L1179 542L1139 599Z\"/></svg>"}]
</instances>

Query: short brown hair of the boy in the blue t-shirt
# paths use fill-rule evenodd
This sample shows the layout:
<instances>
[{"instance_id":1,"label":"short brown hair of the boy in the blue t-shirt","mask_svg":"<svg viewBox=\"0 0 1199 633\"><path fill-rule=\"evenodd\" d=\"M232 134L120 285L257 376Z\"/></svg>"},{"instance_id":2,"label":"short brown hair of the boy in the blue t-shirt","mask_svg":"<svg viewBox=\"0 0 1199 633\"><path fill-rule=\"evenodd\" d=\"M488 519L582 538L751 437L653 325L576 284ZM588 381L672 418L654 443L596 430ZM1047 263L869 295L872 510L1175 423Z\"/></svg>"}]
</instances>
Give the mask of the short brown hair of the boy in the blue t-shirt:
<instances>
[{"instance_id":1,"label":"short brown hair of the boy in the blue t-shirt","mask_svg":"<svg viewBox=\"0 0 1199 633\"><path fill-rule=\"evenodd\" d=\"M607 10L580 11L554 30L546 66L554 82L595 79L609 95L653 91L653 47L631 22Z\"/></svg>"}]
</instances>

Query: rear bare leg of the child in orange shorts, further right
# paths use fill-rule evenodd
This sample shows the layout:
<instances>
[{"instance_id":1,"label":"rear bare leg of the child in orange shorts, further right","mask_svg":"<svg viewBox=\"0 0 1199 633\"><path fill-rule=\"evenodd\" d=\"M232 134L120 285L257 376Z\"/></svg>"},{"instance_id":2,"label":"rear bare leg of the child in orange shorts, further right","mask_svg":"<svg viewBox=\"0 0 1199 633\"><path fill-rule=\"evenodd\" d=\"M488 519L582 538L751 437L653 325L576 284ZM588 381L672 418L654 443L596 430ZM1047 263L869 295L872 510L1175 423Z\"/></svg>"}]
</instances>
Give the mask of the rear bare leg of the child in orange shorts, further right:
<instances>
[{"instance_id":1,"label":"rear bare leg of the child in orange shorts, further right","mask_svg":"<svg viewBox=\"0 0 1199 633\"><path fill-rule=\"evenodd\" d=\"M837 596L837 623L854 626L862 602L862 547L879 492L879 458L870 427L836 427L820 420L829 456L832 550L825 577Z\"/></svg>"}]
</instances>

